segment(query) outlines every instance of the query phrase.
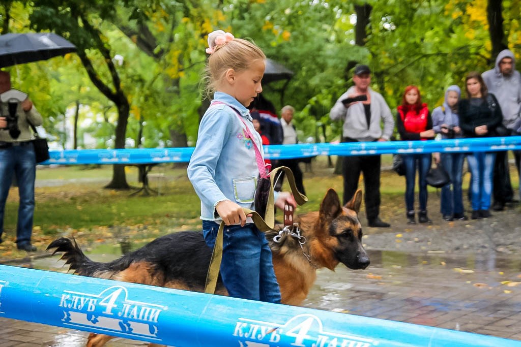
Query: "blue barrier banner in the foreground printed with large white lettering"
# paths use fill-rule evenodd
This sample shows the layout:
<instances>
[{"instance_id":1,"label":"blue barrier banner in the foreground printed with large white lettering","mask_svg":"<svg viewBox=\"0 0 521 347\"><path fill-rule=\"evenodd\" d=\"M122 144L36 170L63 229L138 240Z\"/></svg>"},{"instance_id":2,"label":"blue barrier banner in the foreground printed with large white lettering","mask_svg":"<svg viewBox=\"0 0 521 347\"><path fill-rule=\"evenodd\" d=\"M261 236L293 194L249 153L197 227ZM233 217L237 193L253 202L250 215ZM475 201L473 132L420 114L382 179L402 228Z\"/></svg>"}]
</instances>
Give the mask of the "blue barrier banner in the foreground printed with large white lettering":
<instances>
[{"instance_id":1,"label":"blue barrier banner in the foreground printed with large white lettering","mask_svg":"<svg viewBox=\"0 0 521 347\"><path fill-rule=\"evenodd\" d=\"M518 346L304 307L0 265L0 317L177 347Z\"/></svg>"}]
</instances>

